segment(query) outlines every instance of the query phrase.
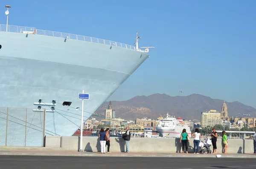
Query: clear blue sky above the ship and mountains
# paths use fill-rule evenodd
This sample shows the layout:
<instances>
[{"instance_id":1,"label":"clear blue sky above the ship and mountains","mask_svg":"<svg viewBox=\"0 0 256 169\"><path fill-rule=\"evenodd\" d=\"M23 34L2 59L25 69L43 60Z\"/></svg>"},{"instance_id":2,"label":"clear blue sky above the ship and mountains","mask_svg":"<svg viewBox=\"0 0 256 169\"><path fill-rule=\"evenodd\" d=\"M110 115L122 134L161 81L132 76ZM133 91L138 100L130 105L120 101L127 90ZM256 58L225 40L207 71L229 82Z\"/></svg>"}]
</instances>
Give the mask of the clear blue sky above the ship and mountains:
<instances>
[{"instance_id":1,"label":"clear blue sky above the ship and mountains","mask_svg":"<svg viewBox=\"0 0 256 169\"><path fill-rule=\"evenodd\" d=\"M256 108L255 0L1 0L0 24L154 46L109 100L193 93ZM183 91L182 94L179 91Z\"/></svg>"}]
</instances>

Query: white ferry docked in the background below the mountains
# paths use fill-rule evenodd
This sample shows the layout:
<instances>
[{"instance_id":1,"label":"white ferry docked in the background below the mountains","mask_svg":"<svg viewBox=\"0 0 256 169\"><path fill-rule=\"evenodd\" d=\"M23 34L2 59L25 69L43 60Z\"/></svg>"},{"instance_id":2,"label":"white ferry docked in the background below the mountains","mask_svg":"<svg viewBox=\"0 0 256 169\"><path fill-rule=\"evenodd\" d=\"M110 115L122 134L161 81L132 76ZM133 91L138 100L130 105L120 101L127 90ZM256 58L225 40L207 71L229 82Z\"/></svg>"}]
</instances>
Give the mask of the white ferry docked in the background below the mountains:
<instances>
[{"instance_id":1,"label":"white ferry docked in the background below the mountains","mask_svg":"<svg viewBox=\"0 0 256 169\"><path fill-rule=\"evenodd\" d=\"M183 129L186 129L186 132L191 136L190 126L186 123L183 123L183 120L178 117L171 117L168 113L166 118L160 120L159 125L156 127L159 132L160 137L180 137Z\"/></svg>"}]
</instances>

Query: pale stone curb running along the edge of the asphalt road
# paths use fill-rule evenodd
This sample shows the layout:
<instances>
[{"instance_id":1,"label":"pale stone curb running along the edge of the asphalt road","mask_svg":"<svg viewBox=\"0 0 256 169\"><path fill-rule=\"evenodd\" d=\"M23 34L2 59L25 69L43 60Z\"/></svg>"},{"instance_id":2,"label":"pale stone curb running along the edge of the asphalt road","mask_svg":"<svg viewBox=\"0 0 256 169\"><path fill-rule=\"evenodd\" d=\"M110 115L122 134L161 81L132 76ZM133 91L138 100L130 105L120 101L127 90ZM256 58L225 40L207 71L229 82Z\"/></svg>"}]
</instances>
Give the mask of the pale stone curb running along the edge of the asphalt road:
<instances>
[{"instance_id":1,"label":"pale stone curb running along the edge of the asphalt road","mask_svg":"<svg viewBox=\"0 0 256 169\"><path fill-rule=\"evenodd\" d=\"M0 155L26 156L70 156L70 157L158 157L158 158L216 158L216 155L134 155L134 154L86 154L86 153L11 153L1 152ZM222 155L221 158L256 158L256 155Z\"/></svg>"}]
</instances>

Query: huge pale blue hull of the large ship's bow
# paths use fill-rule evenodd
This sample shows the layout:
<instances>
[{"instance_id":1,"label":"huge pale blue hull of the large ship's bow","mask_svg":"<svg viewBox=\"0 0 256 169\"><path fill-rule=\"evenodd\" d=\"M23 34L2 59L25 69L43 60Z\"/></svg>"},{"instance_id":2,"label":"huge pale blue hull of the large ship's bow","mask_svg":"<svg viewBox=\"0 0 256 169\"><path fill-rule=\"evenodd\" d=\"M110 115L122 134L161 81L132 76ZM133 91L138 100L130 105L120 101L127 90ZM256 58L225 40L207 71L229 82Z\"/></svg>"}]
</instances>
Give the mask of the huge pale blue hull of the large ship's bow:
<instances>
[{"instance_id":1,"label":"huge pale blue hull of the large ship's bow","mask_svg":"<svg viewBox=\"0 0 256 169\"><path fill-rule=\"evenodd\" d=\"M0 107L36 109L38 99L56 100L55 112L46 114L46 135L73 135L81 126L78 93L90 94L84 100L85 121L148 58L131 49L36 34L0 32L0 44ZM62 106L64 101L72 104ZM6 126L0 130L3 145Z\"/></svg>"}]
</instances>

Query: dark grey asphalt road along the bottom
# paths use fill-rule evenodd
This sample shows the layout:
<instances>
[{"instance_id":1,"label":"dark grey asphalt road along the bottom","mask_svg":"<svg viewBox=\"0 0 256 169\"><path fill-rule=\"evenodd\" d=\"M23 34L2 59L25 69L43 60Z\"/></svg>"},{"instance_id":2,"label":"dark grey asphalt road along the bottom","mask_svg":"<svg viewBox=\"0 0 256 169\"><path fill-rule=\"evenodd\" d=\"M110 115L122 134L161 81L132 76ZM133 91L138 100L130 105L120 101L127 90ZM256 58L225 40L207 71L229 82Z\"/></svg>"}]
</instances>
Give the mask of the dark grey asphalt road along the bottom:
<instances>
[{"instance_id":1,"label":"dark grey asphalt road along the bottom","mask_svg":"<svg viewBox=\"0 0 256 169\"><path fill-rule=\"evenodd\" d=\"M255 158L0 156L0 169L255 169Z\"/></svg>"}]
</instances>

